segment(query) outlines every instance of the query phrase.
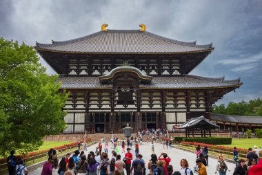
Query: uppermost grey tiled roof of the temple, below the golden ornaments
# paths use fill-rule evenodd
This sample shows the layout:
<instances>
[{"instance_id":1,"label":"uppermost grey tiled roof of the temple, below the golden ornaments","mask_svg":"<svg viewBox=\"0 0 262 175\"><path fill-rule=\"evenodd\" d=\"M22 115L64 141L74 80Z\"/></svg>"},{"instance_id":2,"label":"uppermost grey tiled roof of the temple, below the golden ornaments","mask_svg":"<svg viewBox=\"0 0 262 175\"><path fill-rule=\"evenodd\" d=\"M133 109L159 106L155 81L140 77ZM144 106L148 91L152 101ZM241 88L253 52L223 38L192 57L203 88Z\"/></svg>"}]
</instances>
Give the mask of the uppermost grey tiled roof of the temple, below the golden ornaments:
<instances>
[{"instance_id":1,"label":"uppermost grey tiled roof of the temple, below the golden ornaments","mask_svg":"<svg viewBox=\"0 0 262 175\"><path fill-rule=\"evenodd\" d=\"M64 42L37 42L37 50L66 53L190 53L211 52L212 44L180 42L140 30L108 30Z\"/></svg>"}]
</instances>

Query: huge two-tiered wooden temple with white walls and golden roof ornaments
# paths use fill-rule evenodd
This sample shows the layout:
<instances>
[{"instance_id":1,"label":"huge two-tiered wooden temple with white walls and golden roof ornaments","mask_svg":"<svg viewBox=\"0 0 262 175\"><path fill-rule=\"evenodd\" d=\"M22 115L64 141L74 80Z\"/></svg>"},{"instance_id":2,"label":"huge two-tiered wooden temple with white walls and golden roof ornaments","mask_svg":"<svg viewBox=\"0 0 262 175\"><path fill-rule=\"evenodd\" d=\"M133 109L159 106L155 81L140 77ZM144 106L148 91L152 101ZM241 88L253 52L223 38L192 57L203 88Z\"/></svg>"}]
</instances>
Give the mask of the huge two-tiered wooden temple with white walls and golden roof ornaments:
<instances>
[{"instance_id":1,"label":"huge two-tiered wooden temple with white walls and golden roof ornaments","mask_svg":"<svg viewBox=\"0 0 262 175\"><path fill-rule=\"evenodd\" d=\"M101 31L35 49L60 77L70 95L64 133L172 129L204 116L223 95L241 86L239 79L189 75L214 47L180 42L146 31Z\"/></svg>"}]
</instances>

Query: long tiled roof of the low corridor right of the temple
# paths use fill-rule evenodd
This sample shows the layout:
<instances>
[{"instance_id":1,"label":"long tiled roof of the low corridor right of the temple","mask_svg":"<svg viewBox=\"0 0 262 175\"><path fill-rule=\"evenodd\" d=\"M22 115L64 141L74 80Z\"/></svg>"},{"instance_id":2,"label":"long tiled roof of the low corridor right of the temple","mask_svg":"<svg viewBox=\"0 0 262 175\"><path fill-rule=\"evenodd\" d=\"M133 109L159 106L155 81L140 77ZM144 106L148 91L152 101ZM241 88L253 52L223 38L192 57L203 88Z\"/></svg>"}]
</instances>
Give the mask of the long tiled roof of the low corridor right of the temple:
<instances>
[{"instance_id":1,"label":"long tiled roof of the low corridor right of the temple","mask_svg":"<svg viewBox=\"0 0 262 175\"><path fill-rule=\"evenodd\" d=\"M262 124L262 117L260 116L231 116L218 113L210 113L211 120L221 122L238 122L238 123L250 123L250 124Z\"/></svg>"}]
</instances>

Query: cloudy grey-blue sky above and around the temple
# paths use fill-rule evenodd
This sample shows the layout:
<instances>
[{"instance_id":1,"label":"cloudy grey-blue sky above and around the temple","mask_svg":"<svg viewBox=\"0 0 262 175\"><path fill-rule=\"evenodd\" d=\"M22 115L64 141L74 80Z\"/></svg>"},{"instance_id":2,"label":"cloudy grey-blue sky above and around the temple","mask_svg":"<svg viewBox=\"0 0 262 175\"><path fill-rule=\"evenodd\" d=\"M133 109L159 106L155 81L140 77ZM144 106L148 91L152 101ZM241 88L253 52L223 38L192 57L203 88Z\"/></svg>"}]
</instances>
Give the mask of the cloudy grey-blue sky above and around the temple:
<instances>
[{"instance_id":1,"label":"cloudy grey-blue sky above and around the temple","mask_svg":"<svg viewBox=\"0 0 262 175\"><path fill-rule=\"evenodd\" d=\"M31 46L90 35L105 23L109 29L145 24L171 39L213 42L212 54L190 74L244 83L216 104L262 98L262 1L0 1L0 37Z\"/></svg>"}]
</instances>

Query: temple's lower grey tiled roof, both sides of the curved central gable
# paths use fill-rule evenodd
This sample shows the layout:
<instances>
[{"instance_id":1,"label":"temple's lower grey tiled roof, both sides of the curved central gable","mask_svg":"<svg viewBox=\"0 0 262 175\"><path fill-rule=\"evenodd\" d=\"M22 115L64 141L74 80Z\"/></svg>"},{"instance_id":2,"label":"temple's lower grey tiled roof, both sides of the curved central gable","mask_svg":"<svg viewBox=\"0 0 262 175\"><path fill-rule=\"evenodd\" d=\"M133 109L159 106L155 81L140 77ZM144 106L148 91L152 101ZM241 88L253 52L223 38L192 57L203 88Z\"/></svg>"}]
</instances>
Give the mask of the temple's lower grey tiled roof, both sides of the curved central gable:
<instances>
[{"instance_id":1,"label":"temple's lower grey tiled roof, both sides of the curved central gable","mask_svg":"<svg viewBox=\"0 0 262 175\"><path fill-rule=\"evenodd\" d=\"M59 77L62 82L61 89L103 89L110 88L110 84L102 84L99 77ZM194 75L174 77L153 77L152 82L140 84L143 89L209 89L228 86L241 86L239 80L225 82L223 78L199 77Z\"/></svg>"}]
</instances>

